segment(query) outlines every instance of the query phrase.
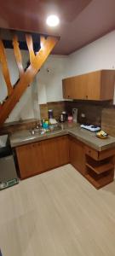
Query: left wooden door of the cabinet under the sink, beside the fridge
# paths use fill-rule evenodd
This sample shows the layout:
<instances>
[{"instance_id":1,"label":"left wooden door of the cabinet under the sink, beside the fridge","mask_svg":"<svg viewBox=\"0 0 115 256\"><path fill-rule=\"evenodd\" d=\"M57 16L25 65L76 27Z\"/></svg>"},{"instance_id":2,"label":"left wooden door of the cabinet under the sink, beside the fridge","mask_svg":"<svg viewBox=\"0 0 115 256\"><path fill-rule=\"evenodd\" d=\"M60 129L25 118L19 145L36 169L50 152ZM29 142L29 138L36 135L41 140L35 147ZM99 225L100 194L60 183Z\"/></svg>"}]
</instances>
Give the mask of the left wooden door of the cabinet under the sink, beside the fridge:
<instances>
[{"instance_id":1,"label":"left wooden door of the cabinet under the sink, beside the fridge","mask_svg":"<svg viewBox=\"0 0 115 256\"><path fill-rule=\"evenodd\" d=\"M41 142L16 148L20 178L31 177L44 171L43 147Z\"/></svg>"}]
</instances>

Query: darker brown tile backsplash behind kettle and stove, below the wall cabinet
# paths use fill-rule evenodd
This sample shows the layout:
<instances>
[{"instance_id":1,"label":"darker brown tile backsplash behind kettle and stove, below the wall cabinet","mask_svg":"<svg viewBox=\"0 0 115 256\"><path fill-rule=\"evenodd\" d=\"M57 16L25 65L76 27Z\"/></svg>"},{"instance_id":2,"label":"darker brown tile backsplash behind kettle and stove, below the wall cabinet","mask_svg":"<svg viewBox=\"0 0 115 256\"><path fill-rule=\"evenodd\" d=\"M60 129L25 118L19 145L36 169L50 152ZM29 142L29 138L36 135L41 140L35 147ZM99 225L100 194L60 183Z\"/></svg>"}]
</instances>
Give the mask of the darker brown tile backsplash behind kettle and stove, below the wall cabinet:
<instances>
[{"instance_id":1,"label":"darker brown tile backsplash behind kettle and stove, below the wall cabinet","mask_svg":"<svg viewBox=\"0 0 115 256\"><path fill-rule=\"evenodd\" d=\"M78 108L78 123L89 123L92 125L101 125L101 114L103 108L112 106L112 102L95 102L95 101L63 101L48 102L40 105L41 119L48 119L48 110L53 109L54 118L59 119L60 113L72 115L72 108ZM85 117L82 118L82 113Z\"/></svg>"}]
</instances>

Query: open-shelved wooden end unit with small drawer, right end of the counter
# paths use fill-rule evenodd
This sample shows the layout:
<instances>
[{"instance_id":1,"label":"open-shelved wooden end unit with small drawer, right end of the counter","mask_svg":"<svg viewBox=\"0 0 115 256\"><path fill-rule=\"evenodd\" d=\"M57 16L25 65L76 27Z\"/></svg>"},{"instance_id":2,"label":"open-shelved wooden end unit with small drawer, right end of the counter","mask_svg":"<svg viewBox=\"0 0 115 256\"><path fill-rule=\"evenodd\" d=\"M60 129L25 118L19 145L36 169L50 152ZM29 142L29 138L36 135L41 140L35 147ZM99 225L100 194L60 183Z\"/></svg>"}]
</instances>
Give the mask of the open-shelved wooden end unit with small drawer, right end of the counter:
<instances>
[{"instance_id":1,"label":"open-shelved wooden end unit with small drawer, right end of the counter","mask_svg":"<svg viewBox=\"0 0 115 256\"><path fill-rule=\"evenodd\" d=\"M96 189L101 189L114 179L115 148L96 151L88 146L85 149L85 177Z\"/></svg>"}]
</instances>

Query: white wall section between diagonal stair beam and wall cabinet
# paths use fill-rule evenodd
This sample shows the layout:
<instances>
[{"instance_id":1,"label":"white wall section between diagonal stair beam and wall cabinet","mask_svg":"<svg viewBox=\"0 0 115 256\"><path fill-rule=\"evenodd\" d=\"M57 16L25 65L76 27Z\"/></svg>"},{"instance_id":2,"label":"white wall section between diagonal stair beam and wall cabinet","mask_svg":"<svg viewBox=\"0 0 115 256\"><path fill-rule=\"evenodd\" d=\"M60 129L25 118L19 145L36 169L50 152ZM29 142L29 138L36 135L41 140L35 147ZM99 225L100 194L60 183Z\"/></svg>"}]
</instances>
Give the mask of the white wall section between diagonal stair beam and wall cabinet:
<instances>
[{"instance_id":1,"label":"white wall section between diagonal stair beam and wall cabinet","mask_svg":"<svg viewBox=\"0 0 115 256\"><path fill-rule=\"evenodd\" d=\"M66 76L67 56L49 55L40 72L37 74L39 103L63 100L62 79Z\"/></svg>"}]
</instances>

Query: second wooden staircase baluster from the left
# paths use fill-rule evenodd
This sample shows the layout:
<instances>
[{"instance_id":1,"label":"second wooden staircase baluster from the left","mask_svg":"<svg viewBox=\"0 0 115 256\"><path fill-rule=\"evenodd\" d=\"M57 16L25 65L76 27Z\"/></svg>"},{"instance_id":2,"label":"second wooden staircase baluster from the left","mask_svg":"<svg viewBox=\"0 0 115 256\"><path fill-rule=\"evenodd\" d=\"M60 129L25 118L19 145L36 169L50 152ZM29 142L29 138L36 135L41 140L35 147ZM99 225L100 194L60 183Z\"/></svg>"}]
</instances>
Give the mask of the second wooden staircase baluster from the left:
<instances>
[{"instance_id":1,"label":"second wooden staircase baluster from the left","mask_svg":"<svg viewBox=\"0 0 115 256\"><path fill-rule=\"evenodd\" d=\"M21 77L22 73L24 73L24 69L23 69L23 65L22 65L22 57L21 57L21 53L20 53L20 47L19 47L17 35L14 35L13 46L14 46L15 61L17 63L18 69L19 69L19 76Z\"/></svg>"}]
</instances>

